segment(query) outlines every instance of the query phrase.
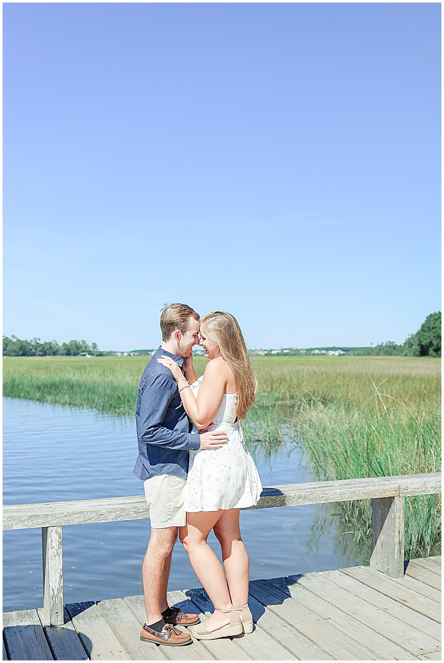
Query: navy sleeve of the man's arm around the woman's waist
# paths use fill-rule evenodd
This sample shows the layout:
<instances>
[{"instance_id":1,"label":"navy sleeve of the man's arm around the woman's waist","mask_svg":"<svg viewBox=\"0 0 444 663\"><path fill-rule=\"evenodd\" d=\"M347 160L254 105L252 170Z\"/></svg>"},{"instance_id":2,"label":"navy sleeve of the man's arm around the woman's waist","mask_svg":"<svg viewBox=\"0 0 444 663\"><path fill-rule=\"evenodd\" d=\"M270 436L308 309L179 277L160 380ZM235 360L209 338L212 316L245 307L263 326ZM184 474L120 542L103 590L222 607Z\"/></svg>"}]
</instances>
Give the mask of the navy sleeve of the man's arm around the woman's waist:
<instances>
[{"instance_id":1,"label":"navy sleeve of the man's arm around the woman's waist","mask_svg":"<svg viewBox=\"0 0 444 663\"><path fill-rule=\"evenodd\" d=\"M200 436L171 430L164 425L165 414L176 396L177 386L172 376L157 373L148 377L141 393L137 422L139 440L167 449L197 450L200 447Z\"/></svg>"}]
</instances>

